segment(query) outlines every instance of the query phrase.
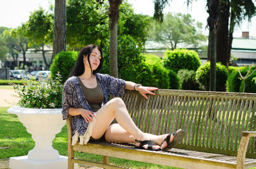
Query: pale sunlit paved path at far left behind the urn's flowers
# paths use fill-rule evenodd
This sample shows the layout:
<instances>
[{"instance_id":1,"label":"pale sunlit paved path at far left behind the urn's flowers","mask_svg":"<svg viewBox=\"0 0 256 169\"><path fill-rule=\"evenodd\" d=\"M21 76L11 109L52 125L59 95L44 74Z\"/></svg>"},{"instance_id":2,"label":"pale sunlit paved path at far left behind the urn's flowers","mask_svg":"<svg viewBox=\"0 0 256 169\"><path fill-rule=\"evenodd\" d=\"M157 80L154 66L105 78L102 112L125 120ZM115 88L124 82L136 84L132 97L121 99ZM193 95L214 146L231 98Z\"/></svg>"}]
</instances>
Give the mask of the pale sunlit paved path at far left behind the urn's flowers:
<instances>
[{"instance_id":1,"label":"pale sunlit paved path at far left behind the urn's flowers","mask_svg":"<svg viewBox=\"0 0 256 169\"><path fill-rule=\"evenodd\" d=\"M12 107L18 103L19 98L12 96L13 94L14 89L0 89L0 107Z\"/></svg>"}]
</instances>

